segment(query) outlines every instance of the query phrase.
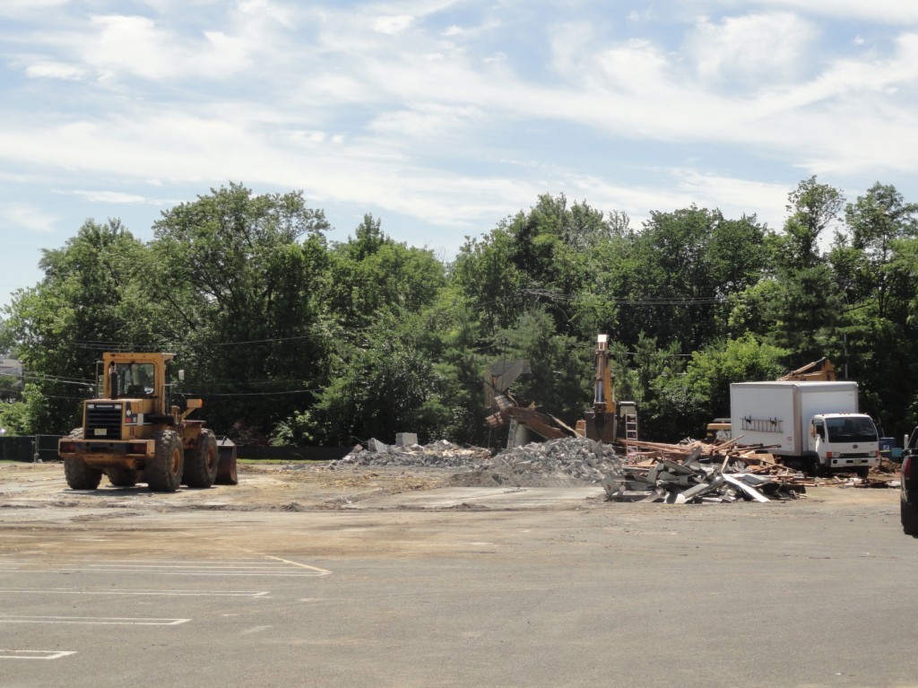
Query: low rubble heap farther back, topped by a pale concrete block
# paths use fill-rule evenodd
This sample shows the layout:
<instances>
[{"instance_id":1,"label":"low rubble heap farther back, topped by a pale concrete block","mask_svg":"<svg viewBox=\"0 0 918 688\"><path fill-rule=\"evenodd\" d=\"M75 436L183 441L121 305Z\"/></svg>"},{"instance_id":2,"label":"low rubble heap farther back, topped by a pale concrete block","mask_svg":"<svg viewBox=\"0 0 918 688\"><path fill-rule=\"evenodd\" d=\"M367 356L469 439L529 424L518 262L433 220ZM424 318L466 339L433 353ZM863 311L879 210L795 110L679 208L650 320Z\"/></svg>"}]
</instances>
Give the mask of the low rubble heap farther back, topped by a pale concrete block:
<instances>
[{"instance_id":1,"label":"low rubble heap farther back, topped by a pale concrete block","mask_svg":"<svg viewBox=\"0 0 918 688\"><path fill-rule=\"evenodd\" d=\"M446 440L430 445L386 445L372 439L367 446L358 445L346 457L329 464L331 470L350 466L374 468L447 468L472 469L490 463L491 453L481 447L464 448Z\"/></svg>"}]
</instances>

